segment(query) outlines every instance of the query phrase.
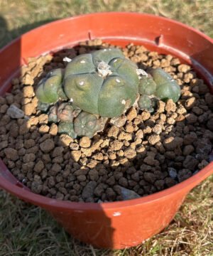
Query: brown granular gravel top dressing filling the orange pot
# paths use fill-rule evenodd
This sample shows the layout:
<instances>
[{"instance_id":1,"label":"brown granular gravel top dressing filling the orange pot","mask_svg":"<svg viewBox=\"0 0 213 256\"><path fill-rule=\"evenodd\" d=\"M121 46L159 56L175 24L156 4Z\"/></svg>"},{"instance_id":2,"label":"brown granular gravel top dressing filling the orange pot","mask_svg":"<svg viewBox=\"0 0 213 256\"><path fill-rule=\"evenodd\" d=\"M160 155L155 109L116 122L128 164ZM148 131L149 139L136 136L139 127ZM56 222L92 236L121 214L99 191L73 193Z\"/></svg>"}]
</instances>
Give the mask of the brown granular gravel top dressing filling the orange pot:
<instances>
[{"instance_id":1,"label":"brown granular gravel top dressing filling the orange pot","mask_svg":"<svg viewBox=\"0 0 213 256\"><path fill-rule=\"evenodd\" d=\"M124 55L139 68L163 68L182 89L177 104L158 102L153 114L135 107L92 139L58 134L57 124L36 110L33 87L63 58L111 47L100 40L29 59L11 92L0 97L0 156L19 181L50 198L68 201L124 200L121 187L139 196L162 191L206 166L212 152L213 95L190 65L172 55L150 52L133 44ZM10 105L26 116L12 119ZM110 106L109 106L110 107Z\"/></svg>"}]
</instances>

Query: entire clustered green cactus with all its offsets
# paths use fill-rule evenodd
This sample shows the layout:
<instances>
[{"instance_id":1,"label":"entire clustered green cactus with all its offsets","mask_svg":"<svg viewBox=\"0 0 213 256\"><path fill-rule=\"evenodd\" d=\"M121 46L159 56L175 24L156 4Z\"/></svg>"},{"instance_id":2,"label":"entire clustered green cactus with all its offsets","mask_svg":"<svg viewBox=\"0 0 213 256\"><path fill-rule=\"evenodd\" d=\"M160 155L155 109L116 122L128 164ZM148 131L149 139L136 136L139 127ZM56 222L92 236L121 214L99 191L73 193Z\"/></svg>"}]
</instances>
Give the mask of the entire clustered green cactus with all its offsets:
<instances>
[{"instance_id":1,"label":"entire clustered green cactus with all its offsets","mask_svg":"<svg viewBox=\"0 0 213 256\"><path fill-rule=\"evenodd\" d=\"M35 95L40 110L49 109L50 122L62 122L62 131L69 127L67 134L72 134L70 127L75 129L76 124L81 124L85 115L82 112L87 112L88 122L82 129L76 128L81 132L74 133L75 137L92 137L99 130L97 125L102 123L104 127L103 120L121 116L138 99L138 106L148 111L153 110L153 98L177 102L180 86L162 69L153 69L147 74L118 48L107 48L78 55L69 61L65 70L50 71L38 83ZM87 123L90 128L83 127Z\"/></svg>"}]
</instances>

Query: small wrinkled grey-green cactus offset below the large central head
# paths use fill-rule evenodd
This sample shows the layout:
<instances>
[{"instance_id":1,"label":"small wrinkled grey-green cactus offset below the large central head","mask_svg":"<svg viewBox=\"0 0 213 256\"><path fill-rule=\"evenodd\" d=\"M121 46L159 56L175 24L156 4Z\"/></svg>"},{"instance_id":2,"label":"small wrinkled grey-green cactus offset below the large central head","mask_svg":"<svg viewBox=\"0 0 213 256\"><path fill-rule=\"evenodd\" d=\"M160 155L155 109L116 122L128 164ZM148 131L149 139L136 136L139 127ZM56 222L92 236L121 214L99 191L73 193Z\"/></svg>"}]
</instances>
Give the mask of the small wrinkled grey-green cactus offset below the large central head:
<instances>
[{"instance_id":1,"label":"small wrinkled grey-green cactus offset below the large central head","mask_svg":"<svg viewBox=\"0 0 213 256\"><path fill-rule=\"evenodd\" d=\"M104 128L104 121L106 120L82 111L74 120L74 130L79 137L87 136L92 138L94 134Z\"/></svg>"}]
</instances>

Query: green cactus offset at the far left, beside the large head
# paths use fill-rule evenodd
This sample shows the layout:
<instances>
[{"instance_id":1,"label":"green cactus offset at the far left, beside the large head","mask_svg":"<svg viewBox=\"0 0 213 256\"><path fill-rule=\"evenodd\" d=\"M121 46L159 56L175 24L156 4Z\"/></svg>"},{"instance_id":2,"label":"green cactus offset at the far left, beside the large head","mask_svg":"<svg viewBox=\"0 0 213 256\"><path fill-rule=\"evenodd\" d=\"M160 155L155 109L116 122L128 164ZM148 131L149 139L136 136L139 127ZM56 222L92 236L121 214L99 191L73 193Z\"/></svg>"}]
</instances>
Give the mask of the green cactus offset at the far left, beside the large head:
<instances>
[{"instance_id":1,"label":"green cactus offset at the far left, beside the large head","mask_svg":"<svg viewBox=\"0 0 213 256\"><path fill-rule=\"evenodd\" d=\"M55 103L59 100L58 90L62 86L63 71L61 68L50 71L45 78L40 80L35 90L39 102Z\"/></svg>"}]
</instances>

